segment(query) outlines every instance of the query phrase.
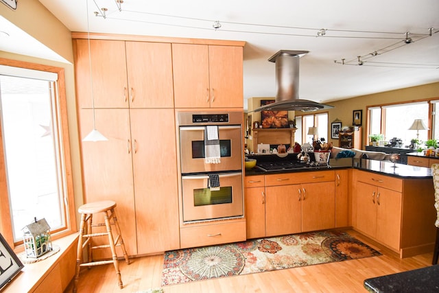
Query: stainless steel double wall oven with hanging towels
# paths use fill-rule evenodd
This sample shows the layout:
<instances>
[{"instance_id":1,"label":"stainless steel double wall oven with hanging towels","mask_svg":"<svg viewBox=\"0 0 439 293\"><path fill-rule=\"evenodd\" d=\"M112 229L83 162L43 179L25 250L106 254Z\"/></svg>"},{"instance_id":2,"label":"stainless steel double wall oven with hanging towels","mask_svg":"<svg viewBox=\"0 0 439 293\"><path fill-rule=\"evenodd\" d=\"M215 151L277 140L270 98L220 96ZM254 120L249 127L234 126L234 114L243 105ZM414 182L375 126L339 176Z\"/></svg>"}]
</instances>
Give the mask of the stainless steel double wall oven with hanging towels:
<instances>
[{"instance_id":1,"label":"stainless steel double wall oven with hanging towels","mask_svg":"<svg viewBox=\"0 0 439 293\"><path fill-rule=\"evenodd\" d=\"M244 217L242 112L180 112L183 222ZM219 163L206 163L206 126L217 126ZM209 187L219 178L219 190Z\"/></svg>"}]
</instances>

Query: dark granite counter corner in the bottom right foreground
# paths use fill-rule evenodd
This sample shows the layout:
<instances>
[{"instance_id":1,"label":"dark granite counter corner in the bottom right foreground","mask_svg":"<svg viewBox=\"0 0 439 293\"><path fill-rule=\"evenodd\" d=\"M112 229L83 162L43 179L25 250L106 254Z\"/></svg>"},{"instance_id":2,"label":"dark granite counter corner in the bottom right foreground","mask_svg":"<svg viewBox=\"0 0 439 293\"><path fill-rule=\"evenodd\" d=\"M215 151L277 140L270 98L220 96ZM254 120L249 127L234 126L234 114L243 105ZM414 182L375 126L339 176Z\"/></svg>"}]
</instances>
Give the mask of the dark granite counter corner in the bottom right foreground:
<instances>
[{"instance_id":1,"label":"dark granite counter corner in the bottom right foreground","mask_svg":"<svg viewBox=\"0 0 439 293\"><path fill-rule=\"evenodd\" d=\"M369 292L439 292L439 265L364 280Z\"/></svg>"}]
</instances>

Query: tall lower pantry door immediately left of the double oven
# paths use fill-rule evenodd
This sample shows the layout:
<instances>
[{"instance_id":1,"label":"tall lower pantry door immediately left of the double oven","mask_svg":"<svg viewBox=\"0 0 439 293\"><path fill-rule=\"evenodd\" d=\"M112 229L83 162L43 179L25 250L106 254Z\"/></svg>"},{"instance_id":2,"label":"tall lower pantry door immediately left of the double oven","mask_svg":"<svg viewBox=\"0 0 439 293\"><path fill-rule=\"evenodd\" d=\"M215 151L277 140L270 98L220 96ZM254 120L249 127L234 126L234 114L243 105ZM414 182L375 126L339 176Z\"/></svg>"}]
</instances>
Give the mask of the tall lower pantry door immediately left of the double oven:
<instances>
[{"instance_id":1,"label":"tall lower pantry door immediately left of the double oven","mask_svg":"<svg viewBox=\"0 0 439 293\"><path fill-rule=\"evenodd\" d=\"M176 126L172 117L172 109L130 110L139 255L180 248ZM157 151L158 145L166 147Z\"/></svg>"}]
</instances>

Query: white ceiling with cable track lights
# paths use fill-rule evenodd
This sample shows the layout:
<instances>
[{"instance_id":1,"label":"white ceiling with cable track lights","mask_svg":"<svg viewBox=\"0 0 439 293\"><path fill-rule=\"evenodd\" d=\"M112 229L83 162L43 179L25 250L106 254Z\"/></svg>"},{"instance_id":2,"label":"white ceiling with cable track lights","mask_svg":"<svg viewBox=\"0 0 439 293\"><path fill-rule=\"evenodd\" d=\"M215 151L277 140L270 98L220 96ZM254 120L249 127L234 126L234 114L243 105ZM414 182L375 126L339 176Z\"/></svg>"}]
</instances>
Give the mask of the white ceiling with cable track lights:
<instances>
[{"instance_id":1,"label":"white ceiling with cable track lights","mask_svg":"<svg viewBox=\"0 0 439 293\"><path fill-rule=\"evenodd\" d=\"M437 0L123 0L121 11L115 0L40 3L72 32L244 40L245 100L275 95L268 59L280 49L309 51L300 59L300 99L331 102L439 82ZM100 8L108 9L105 18L93 13Z\"/></svg>"}]
</instances>

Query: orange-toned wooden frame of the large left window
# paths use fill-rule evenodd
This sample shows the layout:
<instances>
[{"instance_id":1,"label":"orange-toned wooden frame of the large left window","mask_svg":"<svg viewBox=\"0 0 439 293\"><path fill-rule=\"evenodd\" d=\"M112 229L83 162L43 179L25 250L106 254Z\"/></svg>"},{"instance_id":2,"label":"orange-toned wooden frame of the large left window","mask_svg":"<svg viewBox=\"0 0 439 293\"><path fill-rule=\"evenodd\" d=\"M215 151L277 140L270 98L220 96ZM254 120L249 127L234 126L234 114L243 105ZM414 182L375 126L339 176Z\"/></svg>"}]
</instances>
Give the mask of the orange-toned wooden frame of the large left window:
<instances>
[{"instance_id":1,"label":"orange-toned wooden frame of the large left window","mask_svg":"<svg viewBox=\"0 0 439 293\"><path fill-rule=\"evenodd\" d=\"M75 233L77 231L76 226L76 212L75 212L75 198L73 192L73 172L71 165L71 152L70 152L70 139L69 139L69 123L67 117L67 95L65 86L64 68L54 67L50 65L41 65L32 62L10 60L6 58L0 58L0 65L19 67L23 69L34 69L38 71L46 71L58 74L58 86L54 91L58 94L58 99L55 99L54 108L59 110L58 121L60 125L60 137L62 143L62 150L59 150L62 157L62 163L64 164L65 184L64 204L65 211L65 226L56 231L51 231L52 239L58 239ZM56 94L54 93L54 94ZM0 233L6 239L6 242L13 248L20 250L23 248L23 241L14 242L14 236L12 232L12 218L10 213L10 201L8 193L8 182L6 180L6 166L5 166L5 154L3 144L3 131L0 127Z\"/></svg>"}]
</instances>

